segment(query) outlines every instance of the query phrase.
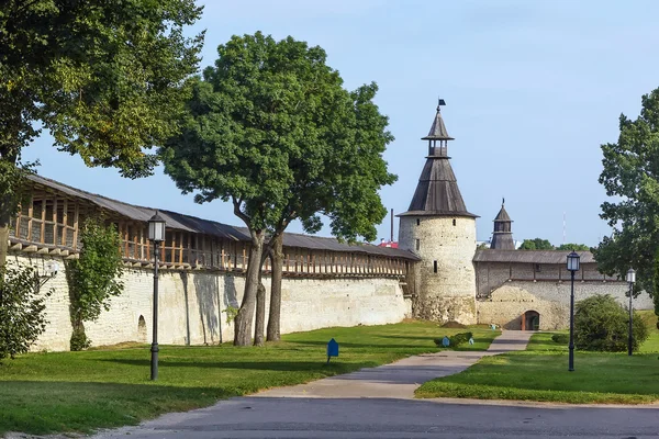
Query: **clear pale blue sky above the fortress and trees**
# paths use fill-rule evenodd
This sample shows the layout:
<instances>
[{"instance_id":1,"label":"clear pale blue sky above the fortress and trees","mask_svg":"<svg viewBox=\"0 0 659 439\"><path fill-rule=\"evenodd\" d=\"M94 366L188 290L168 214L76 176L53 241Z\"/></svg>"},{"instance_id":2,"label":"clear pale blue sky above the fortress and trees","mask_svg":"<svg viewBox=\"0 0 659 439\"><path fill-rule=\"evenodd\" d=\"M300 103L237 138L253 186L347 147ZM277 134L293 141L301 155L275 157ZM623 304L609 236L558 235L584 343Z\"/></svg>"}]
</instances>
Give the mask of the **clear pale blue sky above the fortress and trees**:
<instances>
[{"instance_id":1,"label":"clear pale blue sky above the fortress and trees","mask_svg":"<svg viewBox=\"0 0 659 439\"><path fill-rule=\"evenodd\" d=\"M234 34L263 31L322 46L348 89L376 81L395 136L386 153L399 181L382 200L395 213L412 199L437 98L467 209L488 239L501 199L515 239L596 245L602 143L617 142L618 116L636 117L659 87L657 1L234 0L205 2L202 66ZM194 30L190 31L192 34ZM127 203L242 225L220 201L194 204L161 169L126 180L88 169L43 135L24 150L38 173ZM299 232L298 225L291 230ZM379 226L390 235L389 217ZM398 236L398 219L395 222ZM328 235L326 229L321 235Z\"/></svg>"}]
</instances>

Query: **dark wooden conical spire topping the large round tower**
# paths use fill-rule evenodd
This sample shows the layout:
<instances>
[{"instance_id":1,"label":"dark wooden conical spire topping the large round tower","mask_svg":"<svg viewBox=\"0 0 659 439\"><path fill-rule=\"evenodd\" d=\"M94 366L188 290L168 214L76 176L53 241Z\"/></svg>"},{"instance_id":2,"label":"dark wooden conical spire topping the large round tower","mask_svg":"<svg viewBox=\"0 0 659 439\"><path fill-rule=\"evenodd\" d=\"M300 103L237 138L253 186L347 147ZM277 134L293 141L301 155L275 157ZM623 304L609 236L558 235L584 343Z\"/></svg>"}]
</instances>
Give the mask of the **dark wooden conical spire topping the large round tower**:
<instances>
[{"instance_id":1,"label":"dark wooden conical spire topping the large round tower","mask_svg":"<svg viewBox=\"0 0 659 439\"><path fill-rule=\"evenodd\" d=\"M442 105L446 105L444 99L439 100L431 132L427 136L422 137L422 140L428 140L428 155L418 178L412 203L410 203L407 212L398 216L478 217L478 215L467 211L456 176L450 167L450 157L447 155L447 149L448 140L454 138L446 131L446 125L442 119Z\"/></svg>"}]
</instances>

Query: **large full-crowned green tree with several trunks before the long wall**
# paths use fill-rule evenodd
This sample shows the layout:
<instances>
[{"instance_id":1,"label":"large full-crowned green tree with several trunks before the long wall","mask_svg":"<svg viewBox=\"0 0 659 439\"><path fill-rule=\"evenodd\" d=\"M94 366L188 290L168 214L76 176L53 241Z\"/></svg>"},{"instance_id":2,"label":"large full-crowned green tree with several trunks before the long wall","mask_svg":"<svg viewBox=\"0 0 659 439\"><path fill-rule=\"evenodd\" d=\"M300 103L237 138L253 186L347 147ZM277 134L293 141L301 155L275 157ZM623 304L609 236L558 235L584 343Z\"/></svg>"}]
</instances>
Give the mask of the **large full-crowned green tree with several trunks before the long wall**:
<instances>
[{"instance_id":1,"label":"large full-crowned green tree with several trunks before the long wall","mask_svg":"<svg viewBox=\"0 0 659 439\"><path fill-rule=\"evenodd\" d=\"M279 336L281 234L292 221L315 233L324 214L340 238L376 238L373 224L387 215L377 191L395 180L381 157L392 136L372 103L376 85L346 91L321 47L256 33L234 36L217 52L215 66L194 85L182 133L160 153L165 172L183 193L197 192L200 203L231 201L249 228L234 338L245 346L268 255L268 338ZM259 334L255 338L258 344Z\"/></svg>"}]
</instances>

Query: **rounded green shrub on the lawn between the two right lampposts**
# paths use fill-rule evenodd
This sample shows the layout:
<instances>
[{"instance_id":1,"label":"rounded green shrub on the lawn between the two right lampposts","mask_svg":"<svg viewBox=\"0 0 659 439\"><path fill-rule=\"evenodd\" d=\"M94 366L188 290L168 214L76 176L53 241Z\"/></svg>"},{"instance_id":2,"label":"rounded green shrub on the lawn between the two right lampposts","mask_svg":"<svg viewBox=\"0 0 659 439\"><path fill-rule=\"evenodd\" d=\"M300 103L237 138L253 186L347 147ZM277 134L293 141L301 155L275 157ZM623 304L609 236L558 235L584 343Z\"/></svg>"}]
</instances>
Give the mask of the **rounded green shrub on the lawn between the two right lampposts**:
<instances>
[{"instance_id":1,"label":"rounded green shrub on the lawn between the two right lampposts","mask_svg":"<svg viewBox=\"0 0 659 439\"><path fill-rule=\"evenodd\" d=\"M593 295L577 303L574 309L574 344L578 349L622 352L627 349L629 312L611 295ZM648 328L635 315L633 350L648 338Z\"/></svg>"}]
</instances>

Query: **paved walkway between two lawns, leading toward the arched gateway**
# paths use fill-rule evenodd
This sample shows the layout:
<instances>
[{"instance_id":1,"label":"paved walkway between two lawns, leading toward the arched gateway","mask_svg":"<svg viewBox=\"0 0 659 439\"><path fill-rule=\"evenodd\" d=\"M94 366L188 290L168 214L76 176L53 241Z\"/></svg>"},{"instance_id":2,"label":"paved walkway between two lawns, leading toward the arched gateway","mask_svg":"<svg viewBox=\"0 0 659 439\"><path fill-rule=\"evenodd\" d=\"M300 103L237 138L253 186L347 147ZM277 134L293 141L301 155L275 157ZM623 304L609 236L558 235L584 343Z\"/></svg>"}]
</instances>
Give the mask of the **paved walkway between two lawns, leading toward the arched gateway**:
<instances>
[{"instance_id":1,"label":"paved walkway between two lawns, leading toward the arched gateway","mask_svg":"<svg viewBox=\"0 0 659 439\"><path fill-rule=\"evenodd\" d=\"M532 335L532 331L504 330L487 351L447 350L414 356L391 364L362 369L308 384L272 389L252 396L411 399L414 397L414 391L426 381L461 372L484 356L526 349Z\"/></svg>"}]
</instances>

